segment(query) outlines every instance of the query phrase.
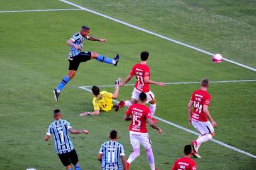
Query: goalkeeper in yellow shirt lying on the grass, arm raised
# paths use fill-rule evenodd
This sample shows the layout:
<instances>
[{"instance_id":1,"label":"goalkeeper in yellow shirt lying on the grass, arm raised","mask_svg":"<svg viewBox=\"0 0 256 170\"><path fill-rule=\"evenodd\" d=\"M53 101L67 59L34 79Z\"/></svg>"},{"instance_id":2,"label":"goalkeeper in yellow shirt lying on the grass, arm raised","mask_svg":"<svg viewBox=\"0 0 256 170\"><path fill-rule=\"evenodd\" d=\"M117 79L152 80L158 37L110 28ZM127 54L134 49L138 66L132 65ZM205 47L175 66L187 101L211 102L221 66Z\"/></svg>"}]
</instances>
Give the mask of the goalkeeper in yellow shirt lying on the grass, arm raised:
<instances>
[{"instance_id":1,"label":"goalkeeper in yellow shirt lying on the grass, arm raised","mask_svg":"<svg viewBox=\"0 0 256 170\"><path fill-rule=\"evenodd\" d=\"M99 115L100 111L110 111L112 108L115 108L115 105L112 103L112 99L116 99L119 95L119 85L122 82L122 79L117 79L115 81L115 91L113 94L108 93L107 91L100 91L98 86L93 86L91 91L93 92L93 112L82 112L80 116L87 115Z\"/></svg>"}]
</instances>

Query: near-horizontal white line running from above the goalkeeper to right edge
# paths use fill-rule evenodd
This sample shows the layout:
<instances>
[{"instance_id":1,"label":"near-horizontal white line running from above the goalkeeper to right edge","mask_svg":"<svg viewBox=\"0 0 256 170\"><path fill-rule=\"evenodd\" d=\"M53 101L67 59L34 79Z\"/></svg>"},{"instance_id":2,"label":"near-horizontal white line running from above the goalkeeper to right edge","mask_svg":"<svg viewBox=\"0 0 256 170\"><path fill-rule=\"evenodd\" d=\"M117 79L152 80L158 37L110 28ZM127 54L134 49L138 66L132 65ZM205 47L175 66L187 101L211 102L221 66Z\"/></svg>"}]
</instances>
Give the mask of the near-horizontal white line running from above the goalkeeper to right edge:
<instances>
[{"instance_id":1,"label":"near-horizontal white line running from above the goalkeeper to right edge","mask_svg":"<svg viewBox=\"0 0 256 170\"><path fill-rule=\"evenodd\" d=\"M235 81L210 81L210 83L228 83L228 82L253 82L256 80L235 80ZM166 82L165 84L199 84L201 83L200 81L195 81L195 82ZM113 87L115 85L102 85L98 87ZM134 86L134 84L125 84L124 86ZM84 88L91 88L91 86L81 86ZM81 88L79 87L79 88Z\"/></svg>"}]
</instances>

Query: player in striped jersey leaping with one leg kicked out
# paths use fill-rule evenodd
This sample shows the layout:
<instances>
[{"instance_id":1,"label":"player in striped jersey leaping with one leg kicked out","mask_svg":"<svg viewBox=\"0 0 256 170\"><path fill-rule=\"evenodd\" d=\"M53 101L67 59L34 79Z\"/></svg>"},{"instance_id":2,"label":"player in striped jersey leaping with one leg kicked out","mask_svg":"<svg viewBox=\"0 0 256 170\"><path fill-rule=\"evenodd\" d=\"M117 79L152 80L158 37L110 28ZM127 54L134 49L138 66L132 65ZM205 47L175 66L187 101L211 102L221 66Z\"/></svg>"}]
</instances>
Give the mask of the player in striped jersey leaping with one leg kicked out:
<instances>
[{"instance_id":1,"label":"player in striped jersey leaping with one leg kicked out","mask_svg":"<svg viewBox=\"0 0 256 170\"><path fill-rule=\"evenodd\" d=\"M58 101L59 94L64 86L76 75L76 71L78 70L79 64L81 62L86 62L90 59L96 59L100 62L105 62L112 65L117 65L119 62L119 54L114 59L110 59L106 56L100 55L96 52L81 52L83 48L84 42L86 40L90 41L98 41L98 42L106 42L106 39L103 38L95 38L89 36L90 28L88 26L82 26L81 31L73 35L72 38L67 40L67 45L70 46L70 52L68 56L69 60L69 72L67 76L63 77L62 81L59 83L59 86L54 89L54 98Z\"/></svg>"}]
</instances>

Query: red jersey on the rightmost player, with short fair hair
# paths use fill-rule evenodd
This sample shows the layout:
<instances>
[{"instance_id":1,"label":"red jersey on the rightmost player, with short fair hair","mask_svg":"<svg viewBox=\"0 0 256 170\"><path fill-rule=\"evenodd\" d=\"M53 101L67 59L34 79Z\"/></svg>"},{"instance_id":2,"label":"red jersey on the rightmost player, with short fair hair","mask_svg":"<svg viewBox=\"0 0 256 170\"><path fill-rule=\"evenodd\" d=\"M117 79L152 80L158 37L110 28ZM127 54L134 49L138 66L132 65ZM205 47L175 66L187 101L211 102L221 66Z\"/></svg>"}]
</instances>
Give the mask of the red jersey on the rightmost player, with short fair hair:
<instances>
[{"instance_id":1,"label":"red jersey on the rightmost player, with short fair hair","mask_svg":"<svg viewBox=\"0 0 256 170\"><path fill-rule=\"evenodd\" d=\"M207 91L201 89L194 91L191 96L191 101L194 102L194 110L192 112L192 118L201 122L207 122L206 113L204 113L204 105L209 106L211 102L211 95Z\"/></svg>"}]
</instances>

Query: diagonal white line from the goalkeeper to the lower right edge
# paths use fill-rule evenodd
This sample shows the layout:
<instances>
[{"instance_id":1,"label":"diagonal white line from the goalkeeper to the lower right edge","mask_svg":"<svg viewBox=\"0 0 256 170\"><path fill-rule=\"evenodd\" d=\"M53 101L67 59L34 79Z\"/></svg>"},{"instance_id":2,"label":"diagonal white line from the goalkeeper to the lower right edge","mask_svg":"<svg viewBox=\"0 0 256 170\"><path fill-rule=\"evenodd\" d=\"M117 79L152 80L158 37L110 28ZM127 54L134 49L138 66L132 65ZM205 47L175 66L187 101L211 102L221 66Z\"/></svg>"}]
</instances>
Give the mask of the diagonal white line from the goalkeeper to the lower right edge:
<instances>
[{"instance_id":1,"label":"diagonal white line from the goalkeeper to the lower right edge","mask_svg":"<svg viewBox=\"0 0 256 170\"><path fill-rule=\"evenodd\" d=\"M90 86L90 87L91 87L91 86ZM92 91L91 91L90 89L85 88L84 86L83 86L83 87L79 87L79 88L80 88L80 89L84 89L84 90L86 90L86 91L92 93ZM112 100L113 100L113 102L115 102L115 103L119 103L119 101L117 101L117 100L115 100L115 99L112 99ZM159 118L158 116L153 116L153 117L156 118L156 119L158 119L158 120L160 120L161 122L167 123L168 125L172 125L173 127L177 127L177 128L179 128L179 129L185 130L186 132L193 133L194 135L199 135L199 133L197 133L197 132L195 132L195 131L193 131L193 130L189 130L188 128L184 128L184 127L182 127L182 126L180 126L180 125L177 125L177 124L175 124L175 123L172 123L172 122L169 122L169 121L164 120L164 119L162 119L162 118ZM237 149L237 148L235 148L235 147L233 147L233 146L231 146L231 145L225 144L225 143L223 143L223 142L221 142L221 141L219 141L219 140L215 140L215 139L211 139L211 140L212 140L212 142L216 142L216 143L219 144L219 145L223 145L224 147L227 147L228 149L235 150L236 152L240 152L241 154L245 154L245 155L247 155L247 156L250 156L250 157L253 157L254 159L256 159L256 156L254 156L253 154L250 154L250 153L245 152L245 151L243 151L243 150Z\"/></svg>"}]
</instances>

